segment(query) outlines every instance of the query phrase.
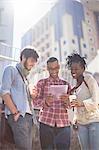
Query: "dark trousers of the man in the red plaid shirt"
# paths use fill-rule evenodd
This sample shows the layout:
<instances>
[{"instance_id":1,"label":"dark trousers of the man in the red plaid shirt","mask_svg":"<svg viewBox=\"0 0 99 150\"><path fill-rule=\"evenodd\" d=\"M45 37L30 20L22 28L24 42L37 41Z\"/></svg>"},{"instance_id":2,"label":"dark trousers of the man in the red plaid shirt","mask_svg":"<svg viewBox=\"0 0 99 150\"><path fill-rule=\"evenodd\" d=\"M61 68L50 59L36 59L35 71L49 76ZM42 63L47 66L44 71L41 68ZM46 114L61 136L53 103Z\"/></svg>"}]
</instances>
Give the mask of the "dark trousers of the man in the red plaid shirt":
<instances>
[{"instance_id":1,"label":"dark trousers of the man in the red plaid shirt","mask_svg":"<svg viewBox=\"0 0 99 150\"><path fill-rule=\"evenodd\" d=\"M40 123L40 142L42 150L69 150L70 127L51 127Z\"/></svg>"}]
</instances>

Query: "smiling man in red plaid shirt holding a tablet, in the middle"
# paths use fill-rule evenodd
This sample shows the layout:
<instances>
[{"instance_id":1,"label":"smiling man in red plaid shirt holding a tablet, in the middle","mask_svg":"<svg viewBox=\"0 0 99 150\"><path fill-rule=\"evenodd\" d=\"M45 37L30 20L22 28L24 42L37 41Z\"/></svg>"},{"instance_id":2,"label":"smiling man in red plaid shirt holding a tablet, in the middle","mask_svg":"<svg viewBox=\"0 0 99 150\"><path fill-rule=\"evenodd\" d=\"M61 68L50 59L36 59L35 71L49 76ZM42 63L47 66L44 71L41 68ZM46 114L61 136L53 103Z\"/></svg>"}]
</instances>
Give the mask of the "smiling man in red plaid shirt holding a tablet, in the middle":
<instances>
[{"instance_id":1,"label":"smiling man in red plaid shirt holding a tablet, in the middle","mask_svg":"<svg viewBox=\"0 0 99 150\"><path fill-rule=\"evenodd\" d=\"M40 142L42 150L69 150L70 148L70 121L68 120L68 94L70 85L59 78L60 65L58 59L51 57L47 61L49 77L41 79L37 83L38 96L33 99L35 107L41 107L40 122ZM67 93L53 95L49 92L51 86L66 87ZM55 89L54 89L55 90ZM53 91L52 91L53 92Z\"/></svg>"}]
</instances>

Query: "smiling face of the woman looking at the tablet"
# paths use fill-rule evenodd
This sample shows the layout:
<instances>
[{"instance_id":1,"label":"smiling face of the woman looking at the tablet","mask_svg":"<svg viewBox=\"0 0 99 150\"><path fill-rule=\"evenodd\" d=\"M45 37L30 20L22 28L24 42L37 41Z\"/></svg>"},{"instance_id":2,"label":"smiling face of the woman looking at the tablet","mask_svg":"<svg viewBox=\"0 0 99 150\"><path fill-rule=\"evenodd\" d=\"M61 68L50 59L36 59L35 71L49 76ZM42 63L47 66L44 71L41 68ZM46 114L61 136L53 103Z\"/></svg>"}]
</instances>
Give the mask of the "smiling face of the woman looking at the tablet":
<instances>
[{"instance_id":1,"label":"smiling face of the woman looking at the tablet","mask_svg":"<svg viewBox=\"0 0 99 150\"><path fill-rule=\"evenodd\" d=\"M83 75L83 72L85 71L84 67L81 65L81 63L72 63L71 65L71 74L74 79L78 79L80 76Z\"/></svg>"}]
</instances>

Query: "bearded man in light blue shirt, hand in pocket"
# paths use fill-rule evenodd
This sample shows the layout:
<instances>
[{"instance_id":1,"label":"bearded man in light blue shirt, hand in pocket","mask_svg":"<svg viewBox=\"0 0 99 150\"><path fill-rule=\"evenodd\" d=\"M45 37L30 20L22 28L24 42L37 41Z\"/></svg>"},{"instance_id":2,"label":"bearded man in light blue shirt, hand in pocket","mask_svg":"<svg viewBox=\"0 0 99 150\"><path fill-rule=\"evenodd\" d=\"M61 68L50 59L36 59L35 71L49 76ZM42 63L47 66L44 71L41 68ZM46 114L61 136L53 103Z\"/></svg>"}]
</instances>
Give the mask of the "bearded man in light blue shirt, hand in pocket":
<instances>
[{"instance_id":1,"label":"bearded man in light blue shirt, hand in pocket","mask_svg":"<svg viewBox=\"0 0 99 150\"><path fill-rule=\"evenodd\" d=\"M33 48L21 51L20 63L7 66L0 93L6 105L8 123L18 149L32 149L32 110L27 75L39 58Z\"/></svg>"}]
</instances>

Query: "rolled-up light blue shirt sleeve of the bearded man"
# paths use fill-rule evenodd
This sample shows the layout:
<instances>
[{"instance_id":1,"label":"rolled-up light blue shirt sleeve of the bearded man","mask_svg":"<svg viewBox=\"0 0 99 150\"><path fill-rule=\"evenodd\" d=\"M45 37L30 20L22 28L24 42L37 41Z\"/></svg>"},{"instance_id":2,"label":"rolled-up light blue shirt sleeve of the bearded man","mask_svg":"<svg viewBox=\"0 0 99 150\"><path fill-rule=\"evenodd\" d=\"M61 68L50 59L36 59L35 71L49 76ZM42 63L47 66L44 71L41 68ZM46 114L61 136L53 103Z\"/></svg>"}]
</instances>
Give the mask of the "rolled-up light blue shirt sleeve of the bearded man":
<instances>
[{"instance_id":1,"label":"rolled-up light blue shirt sleeve of the bearded man","mask_svg":"<svg viewBox=\"0 0 99 150\"><path fill-rule=\"evenodd\" d=\"M3 77L2 77L2 85L0 89L1 96L11 92L11 85L14 80L13 67L8 66L5 68Z\"/></svg>"}]
</instances>

